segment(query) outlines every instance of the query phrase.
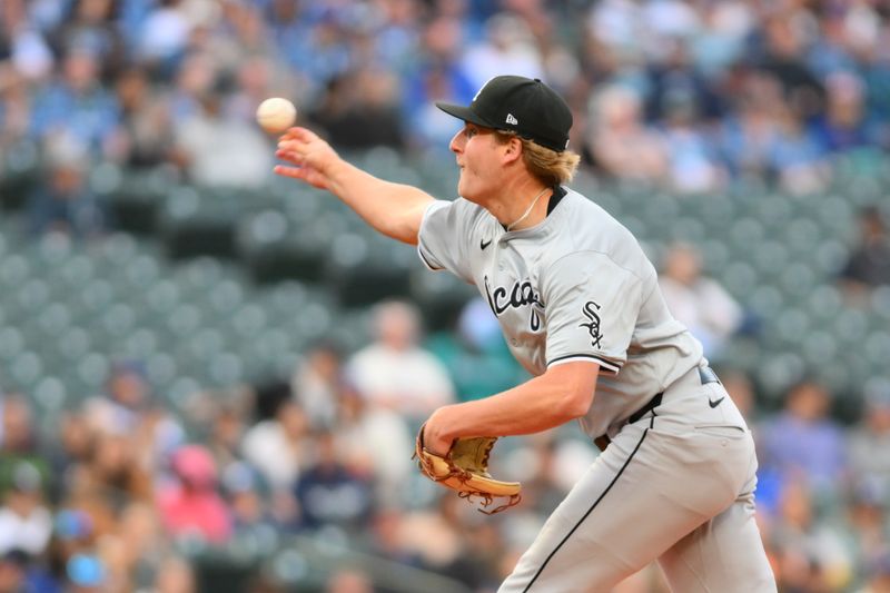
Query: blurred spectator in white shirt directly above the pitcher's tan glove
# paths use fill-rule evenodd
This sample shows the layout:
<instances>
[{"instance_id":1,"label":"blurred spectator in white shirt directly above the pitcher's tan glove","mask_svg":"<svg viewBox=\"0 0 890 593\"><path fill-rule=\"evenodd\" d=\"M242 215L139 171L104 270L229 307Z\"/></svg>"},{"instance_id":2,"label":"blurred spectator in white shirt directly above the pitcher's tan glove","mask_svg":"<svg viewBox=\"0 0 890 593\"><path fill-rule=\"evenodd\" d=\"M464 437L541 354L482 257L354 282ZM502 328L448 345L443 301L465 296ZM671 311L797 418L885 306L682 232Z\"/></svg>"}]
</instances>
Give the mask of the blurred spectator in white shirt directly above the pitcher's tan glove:
<instances>
[{"instance_id":1,"label":"blurred spectator in white shirt directly above the pitcher's tan glove","mask_svg":"<svg viewBox=\"0 0 890 593\"><path fill-rule=\"evenodd\" d=\"M454 387L442 363L418 346L419 317L405 303L384 303L374 310L374 342L347 364L347 379L372 406L412 421L425 418L454 401Z\"/></svg>"}]
</instances>

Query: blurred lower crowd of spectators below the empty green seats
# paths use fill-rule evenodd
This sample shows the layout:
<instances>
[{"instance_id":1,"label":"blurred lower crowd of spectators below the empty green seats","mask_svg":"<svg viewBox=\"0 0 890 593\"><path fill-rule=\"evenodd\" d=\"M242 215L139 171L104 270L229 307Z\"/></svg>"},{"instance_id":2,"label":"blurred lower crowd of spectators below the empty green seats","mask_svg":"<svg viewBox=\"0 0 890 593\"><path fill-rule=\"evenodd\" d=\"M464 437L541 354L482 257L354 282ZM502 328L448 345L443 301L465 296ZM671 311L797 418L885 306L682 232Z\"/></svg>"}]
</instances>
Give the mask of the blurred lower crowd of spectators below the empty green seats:
<instances>
[{"instance_id":1,"label":"blurred lower crowd of spectators below the empty green seats","mask_svg":"<svg viewBox=\"0 0 890 593\"><path fill-rule=\"evenodd\" d=\"M574 426L503 439L494 472L523 482L523 502L493 517L418 475L413 438L433 409L523 378L477 305L457 323L472 329L424 336L413 305L380 303L358 350L319 343L289 380L198 393L185 414L152 392L138 360L115 365L102 393L51 424L28 394L7 393L0 591L208 590L196 552L264 533L340 542L494 591L597 452ZM861 417L843 425L815 380L764 411L743 373L721 377L755 433L759 522L780 591L889 591L890 463L880 452L890 385L869 387ZM294 590L261 560L241 591ZM324 591L389 591L340 569ZM653 566L616 590L664 591Z\"/></svg>"}]
</instances>

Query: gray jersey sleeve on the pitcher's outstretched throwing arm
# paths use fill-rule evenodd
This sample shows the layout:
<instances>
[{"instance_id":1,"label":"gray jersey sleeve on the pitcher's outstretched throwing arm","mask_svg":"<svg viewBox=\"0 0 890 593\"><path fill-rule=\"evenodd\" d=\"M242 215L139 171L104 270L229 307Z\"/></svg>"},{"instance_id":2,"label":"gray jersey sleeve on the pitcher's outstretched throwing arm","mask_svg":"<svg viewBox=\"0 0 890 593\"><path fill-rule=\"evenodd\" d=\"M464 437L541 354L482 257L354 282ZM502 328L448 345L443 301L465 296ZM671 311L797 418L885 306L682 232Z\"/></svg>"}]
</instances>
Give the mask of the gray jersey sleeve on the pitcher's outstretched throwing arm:
<instances>
[{"instance_id":1,"label":"gray jersey sleeve on the pitcher's outstretched throwing arm","mask_svg":"<svg viewBox=\"0 0 890 593\"><path fill-rule=\"evenodd\" d=\"M417 234L417 254L432 270L446 269L472 283L466 257L471 220L462 200L436 200L424 213Z\"/></svg>"}]
</instances>

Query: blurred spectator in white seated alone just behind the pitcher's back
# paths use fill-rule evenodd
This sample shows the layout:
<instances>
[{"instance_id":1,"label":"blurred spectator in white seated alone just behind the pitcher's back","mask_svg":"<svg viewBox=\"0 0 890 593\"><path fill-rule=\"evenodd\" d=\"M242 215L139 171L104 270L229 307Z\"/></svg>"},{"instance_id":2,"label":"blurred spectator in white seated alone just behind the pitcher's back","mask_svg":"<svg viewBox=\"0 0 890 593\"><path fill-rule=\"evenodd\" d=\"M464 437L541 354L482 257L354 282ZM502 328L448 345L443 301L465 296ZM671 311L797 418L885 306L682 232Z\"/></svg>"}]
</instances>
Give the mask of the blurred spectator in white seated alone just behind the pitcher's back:
<instances>
[{"instance_id":1,"label":"blurred spectator in white seated alone just behind the pitcher's back","mask_svg":"<svg viewBox=\"0 0 890 593\"><path fill-rule=\"evenodd\" d=\"M699 337L705 356L719 358L744 314L720 283L702 274L699 250L686 244L671 246L659 284L668 308Z\"/></svg>"}]
</instances>

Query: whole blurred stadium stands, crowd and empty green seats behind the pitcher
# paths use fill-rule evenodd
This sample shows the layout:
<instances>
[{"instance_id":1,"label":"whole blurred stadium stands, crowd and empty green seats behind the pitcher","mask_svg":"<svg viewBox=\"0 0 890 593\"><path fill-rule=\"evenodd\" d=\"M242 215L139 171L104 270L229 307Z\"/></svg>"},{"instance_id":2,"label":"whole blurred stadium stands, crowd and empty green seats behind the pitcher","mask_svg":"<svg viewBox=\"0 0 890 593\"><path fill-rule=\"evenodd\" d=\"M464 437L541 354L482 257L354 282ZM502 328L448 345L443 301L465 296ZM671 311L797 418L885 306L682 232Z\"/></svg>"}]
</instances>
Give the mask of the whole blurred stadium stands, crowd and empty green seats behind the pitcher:
<instances>
[{"instance_id":1,"label":"whole blurred stadium stands, crowd and empty green seats behind the pitcher","mask_svg":"<svg viewBox=\"0 0 890 593\"><path fill-rule=\"evenodd\" d=\"M886 2L0 0L0 592L496 590L594 447L502 439L494 517L421 478L419 422L527 377L253 117L451 199L433 101L500 73L748 416L780 591L890 591Z\"/></svg>"}]
</instances>

